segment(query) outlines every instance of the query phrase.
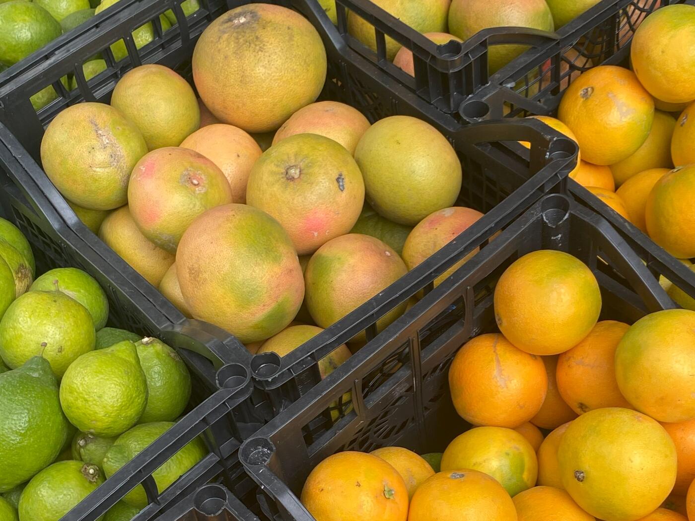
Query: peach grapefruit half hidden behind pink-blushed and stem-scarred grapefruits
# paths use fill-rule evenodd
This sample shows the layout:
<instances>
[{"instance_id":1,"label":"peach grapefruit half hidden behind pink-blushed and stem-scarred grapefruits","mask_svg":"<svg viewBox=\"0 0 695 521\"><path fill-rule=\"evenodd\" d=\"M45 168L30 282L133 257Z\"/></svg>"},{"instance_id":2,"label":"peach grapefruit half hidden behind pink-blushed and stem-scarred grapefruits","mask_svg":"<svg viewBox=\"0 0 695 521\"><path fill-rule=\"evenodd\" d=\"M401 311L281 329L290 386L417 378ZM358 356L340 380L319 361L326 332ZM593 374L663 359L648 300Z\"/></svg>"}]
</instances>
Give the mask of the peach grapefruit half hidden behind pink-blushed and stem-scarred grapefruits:
<instances>
[{"instance_id":1,"label":"peach grapefruit half hidden behind pink-blushed and stem-scarred grapefruits","mask_svg":"<svg viewBox=\"0 0 695 521\"><path fill-rule=\"evenodd\" d=\"M229 181L232 201L246 202L251 167L262 154L254 138L236 126L208 124L183 140L181 147L195 150L218 165Z\"/></svg>"}]
</instances>

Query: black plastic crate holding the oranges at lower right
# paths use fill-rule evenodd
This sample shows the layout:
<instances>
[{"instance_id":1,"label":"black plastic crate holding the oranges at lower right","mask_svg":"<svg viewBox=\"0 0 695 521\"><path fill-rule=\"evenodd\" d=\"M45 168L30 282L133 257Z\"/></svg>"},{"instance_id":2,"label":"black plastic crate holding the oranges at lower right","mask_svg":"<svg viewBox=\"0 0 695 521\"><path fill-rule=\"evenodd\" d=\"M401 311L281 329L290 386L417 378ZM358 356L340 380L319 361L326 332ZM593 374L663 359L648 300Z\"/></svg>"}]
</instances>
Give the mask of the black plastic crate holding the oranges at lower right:
<instances>
[{"instance_id":1,"label":"black plastic crate holding the oranges at lower right","mask_svg":"<svg viewBox=\"0 0 695 521\"><path fill-rule=\"evenodd\" d=\"M473 244L484 245L484 238ZM242 445L261 519L312 521L298 497L309 472L335 452L392 445L442 452L468 429L450 399L448 368L466 341L496 331L496 280L516 258L538 249L566 251L589 266L603 298L600 320L632 323L676 307L658 274L695 295L692 275L678 274L676 261L650 261L658 252L632 250L600 215L564 195L544 197L375 338L375 349L361 349ZM432 328L433 320L439 327ZM352 407L336 417L331 404L345 392L352 393Z\"/></svg>"}]
</instances>

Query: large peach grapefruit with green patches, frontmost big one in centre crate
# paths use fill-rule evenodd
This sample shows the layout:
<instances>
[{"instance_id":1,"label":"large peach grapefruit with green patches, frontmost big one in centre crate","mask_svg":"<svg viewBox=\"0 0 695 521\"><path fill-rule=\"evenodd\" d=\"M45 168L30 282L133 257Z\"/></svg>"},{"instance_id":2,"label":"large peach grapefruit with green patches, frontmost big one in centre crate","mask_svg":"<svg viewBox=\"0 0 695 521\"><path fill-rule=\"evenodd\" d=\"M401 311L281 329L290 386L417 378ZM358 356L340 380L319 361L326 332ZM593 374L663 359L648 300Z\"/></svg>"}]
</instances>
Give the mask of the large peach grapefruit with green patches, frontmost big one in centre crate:
<instances>
[{"instance_id":1,"label":"large peach grapefruit with green patches, frontmost big one in centre crate","mask_svg":"<svg viewBox=\"0 0 695 521\"><path fill-rule=\"evenodd\" d=\"M290 238L251 206L218 206L198 217L183 233L176 260L193 317L241 342L279 333L302 305L302 267Z\"/></svg>"}]
</instances>

